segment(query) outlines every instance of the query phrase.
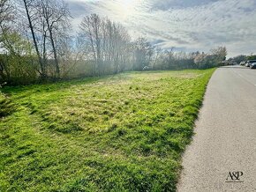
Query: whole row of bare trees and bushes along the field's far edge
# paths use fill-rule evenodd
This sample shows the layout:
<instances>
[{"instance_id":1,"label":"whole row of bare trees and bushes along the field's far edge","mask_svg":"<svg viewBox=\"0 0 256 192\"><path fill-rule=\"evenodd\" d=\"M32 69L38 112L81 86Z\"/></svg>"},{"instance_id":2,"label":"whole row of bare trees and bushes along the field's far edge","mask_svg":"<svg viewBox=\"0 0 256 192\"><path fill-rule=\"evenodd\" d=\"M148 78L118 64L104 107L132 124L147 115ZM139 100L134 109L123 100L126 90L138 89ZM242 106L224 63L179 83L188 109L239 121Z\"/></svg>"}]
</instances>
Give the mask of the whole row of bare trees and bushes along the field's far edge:
<instances>
[{"instance_id":1,"label":"whole row of bare trees and bushes along the field's far edge","mask_svg":"<svg viewBox=\"0 0 256 192\"><path fill-rule=\"evenodd\" d=\"M213 67L225 48L209 54L162 50L96 14L82 19L75 35L63 0L0 0L0 83L29 84L115 74L124 70Z\"/></svg>"}]
</instances>

